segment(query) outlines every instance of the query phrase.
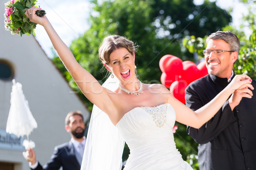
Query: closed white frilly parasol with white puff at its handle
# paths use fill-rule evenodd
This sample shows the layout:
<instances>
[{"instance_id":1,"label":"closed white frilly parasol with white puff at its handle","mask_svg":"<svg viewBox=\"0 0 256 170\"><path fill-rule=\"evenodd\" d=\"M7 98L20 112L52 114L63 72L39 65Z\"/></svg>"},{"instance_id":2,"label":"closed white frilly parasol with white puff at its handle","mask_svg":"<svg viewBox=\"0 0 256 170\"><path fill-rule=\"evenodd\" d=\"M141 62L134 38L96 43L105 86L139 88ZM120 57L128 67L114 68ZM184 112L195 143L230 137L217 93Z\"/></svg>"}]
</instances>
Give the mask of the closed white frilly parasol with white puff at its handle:
<instances>
[{"instance_id":1,"label":"closed white frilly parasol with white puff at its handle","mask_svg":"<svg viewBox=\"0 0 256 170\"><path fill-rule=\"evenodd\" d=\"M11 107L7 119L6 132L15 134L18 137L26 135L27 139L23 141L23 146L25 149L34 148L35 143L29 141L29 134L34 128L37 128L37 122L29 109L29 103L23 94L22 85L19 82L15 82L15 79L12 82Z\"/></svg>"}]
</instances>

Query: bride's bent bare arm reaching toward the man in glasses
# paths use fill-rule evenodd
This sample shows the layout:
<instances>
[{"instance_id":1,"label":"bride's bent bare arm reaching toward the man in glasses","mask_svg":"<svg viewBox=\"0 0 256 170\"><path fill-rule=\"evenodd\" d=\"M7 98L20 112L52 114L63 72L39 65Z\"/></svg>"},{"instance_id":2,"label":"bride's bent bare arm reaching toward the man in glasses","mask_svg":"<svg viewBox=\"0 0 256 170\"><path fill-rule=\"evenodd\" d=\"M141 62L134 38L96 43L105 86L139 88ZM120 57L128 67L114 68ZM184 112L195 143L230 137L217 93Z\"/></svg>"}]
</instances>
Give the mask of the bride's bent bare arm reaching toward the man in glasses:
<instances>
[{"instance_id":1,"label":"bride's bent bare arm reaching toward the man in glasses","mask_svg":"<svg viewBox=\"0 0 256 170\"><path fill-rule=\"evenodd\" d=\"M215 96L215 98L207 103L207 105L204 105L202 108L195 112L183 103L179 102L172 95L170 95L168 102L175 109L177 122L198 129L218 112L224 102L226 102L229 96L233 94L237 89L245 88L244 90L247 94L244 93L243 97L251 98L253 95L251 90L254 89L253 85L251 85L251 82L252 80L247 75L236 75L223 91Z\"/></svg>"}]
</instances>

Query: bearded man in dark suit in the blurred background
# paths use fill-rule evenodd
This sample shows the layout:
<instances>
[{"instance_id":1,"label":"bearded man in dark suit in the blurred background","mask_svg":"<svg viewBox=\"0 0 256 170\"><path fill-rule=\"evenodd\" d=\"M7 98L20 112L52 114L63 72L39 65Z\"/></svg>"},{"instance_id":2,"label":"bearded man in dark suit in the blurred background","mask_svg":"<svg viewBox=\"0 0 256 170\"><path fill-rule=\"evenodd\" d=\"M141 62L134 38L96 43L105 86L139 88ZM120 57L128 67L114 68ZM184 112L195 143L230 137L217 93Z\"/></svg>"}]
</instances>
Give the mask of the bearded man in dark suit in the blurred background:
<instances>
[{"instance_id":1,"label":"bearded man in dark suit in the blurred background","mask_svg":"<svg viewBox=\"0 0 256 170\"><path fill-rule=\"evenodd\" d=\"M26 151L31 170L80 170L85 146L84 117L80 111L71 111L65 119L65 129L70 133L70 142L60 144L54 148L51 159L42 167L36 159L35 151Z\"/></svg>"}]
</instances>

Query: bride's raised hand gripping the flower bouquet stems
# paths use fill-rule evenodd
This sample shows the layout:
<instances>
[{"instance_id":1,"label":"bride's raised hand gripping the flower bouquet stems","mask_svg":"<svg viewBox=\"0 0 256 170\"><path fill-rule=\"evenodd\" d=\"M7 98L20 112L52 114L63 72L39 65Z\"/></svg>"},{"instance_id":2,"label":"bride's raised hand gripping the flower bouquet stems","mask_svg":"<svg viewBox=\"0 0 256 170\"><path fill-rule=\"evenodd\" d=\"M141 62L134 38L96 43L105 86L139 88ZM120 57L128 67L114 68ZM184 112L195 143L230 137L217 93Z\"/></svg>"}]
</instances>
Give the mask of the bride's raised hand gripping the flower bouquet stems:
<instances>
[{"instance_id":1,"label":"bride's raised hand gripping the flower bouquet stems","mask_svg":"<svg viewBox=\"0 0 256 170\"><path fill-rule=\"evenodd\" d=\"M29 18L29 20L33 23L37 23L41 26L44 26L44 23L48 22L47 17L44 15L43 17L38 17L35 12L40 10L41 8L36 8L33 6L32 8L29 8L26 10L25 14Z\"/></svg>"}]
</instances>

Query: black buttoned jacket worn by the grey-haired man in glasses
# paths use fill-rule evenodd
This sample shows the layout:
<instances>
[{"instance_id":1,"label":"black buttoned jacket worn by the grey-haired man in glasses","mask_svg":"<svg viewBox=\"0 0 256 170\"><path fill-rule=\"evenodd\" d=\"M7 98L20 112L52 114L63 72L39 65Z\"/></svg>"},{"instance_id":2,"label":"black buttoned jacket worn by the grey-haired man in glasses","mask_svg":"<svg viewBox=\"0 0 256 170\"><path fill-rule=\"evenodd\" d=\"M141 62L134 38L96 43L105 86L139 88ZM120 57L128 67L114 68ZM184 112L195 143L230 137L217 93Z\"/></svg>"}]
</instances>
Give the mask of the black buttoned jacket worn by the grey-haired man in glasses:
<instances>
[{"instance_id":1,"label":"black buttoned jacket worn by the grey-haired man in glasses","mask_svg":"<svg viewBox=\"0 0 256 170\"><path fill-rule=\"evenodd\" d=\"M227 78L208 74L186 88L186 105L195 111L227 85ZM252 85L256 89L255 80ZM200 170L256 170L256 90L233 111L226 101L201 128L187 127L187 132L199 143Z\"/></svg>"}]
</instances>

